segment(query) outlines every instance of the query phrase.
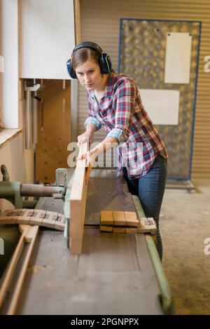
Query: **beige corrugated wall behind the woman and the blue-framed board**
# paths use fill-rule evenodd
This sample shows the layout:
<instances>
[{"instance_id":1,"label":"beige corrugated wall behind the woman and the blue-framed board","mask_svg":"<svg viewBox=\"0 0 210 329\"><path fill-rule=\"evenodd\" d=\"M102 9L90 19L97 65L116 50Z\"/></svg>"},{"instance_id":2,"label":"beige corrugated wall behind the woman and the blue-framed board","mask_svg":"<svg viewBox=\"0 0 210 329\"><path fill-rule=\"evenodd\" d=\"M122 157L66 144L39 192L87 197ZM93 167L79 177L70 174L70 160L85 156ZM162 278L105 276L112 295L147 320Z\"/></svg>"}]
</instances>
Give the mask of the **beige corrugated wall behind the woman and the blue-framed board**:
<instances>
[{"instance_id":1,"label":"beige corrugated wall behind the woman and the blue-framed board","mask_svg":"<svg viewBox=\"0 0 210 329\"><path fill-rule=\"evenodd\" d=\"M109 53L113 68L118 70L120 18L160 20L201 20L202 38L197 85L195 137L193 145L193 177L210 177L210 72L204 72L204 57L210 55L210 2L195 0L80 0L81 41L94 41ZM79 89L78 133L87 117L86 92ZM96 140L104 137L98 132Z\"/></svg>"}]
</instances>

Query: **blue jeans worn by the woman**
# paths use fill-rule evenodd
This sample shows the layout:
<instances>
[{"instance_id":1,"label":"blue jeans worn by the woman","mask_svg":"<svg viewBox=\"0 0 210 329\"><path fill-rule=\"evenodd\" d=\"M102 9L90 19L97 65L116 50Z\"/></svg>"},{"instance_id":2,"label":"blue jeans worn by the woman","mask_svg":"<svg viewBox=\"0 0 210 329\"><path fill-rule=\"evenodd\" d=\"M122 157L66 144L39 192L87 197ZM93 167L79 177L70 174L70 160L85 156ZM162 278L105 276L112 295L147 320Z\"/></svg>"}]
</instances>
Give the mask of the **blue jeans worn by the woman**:
<instances>
[{"instance_id":1,"label":"blue jeans worn by the woman","mask_svg":"<svg viewBox=\"0 0 210 329\"><path fill-rule=\"evenodd\" d=\"M167 159L157 156L149 172L140 178L130 180L127 176L127 168L123 168L123 175L127 182L129 192L139 196L141 206L146 217L153 217L157 228L157 249L162 260L162 239L159 229L160 208L165 192L167 180Z\"/></svg>"}]
</instances>

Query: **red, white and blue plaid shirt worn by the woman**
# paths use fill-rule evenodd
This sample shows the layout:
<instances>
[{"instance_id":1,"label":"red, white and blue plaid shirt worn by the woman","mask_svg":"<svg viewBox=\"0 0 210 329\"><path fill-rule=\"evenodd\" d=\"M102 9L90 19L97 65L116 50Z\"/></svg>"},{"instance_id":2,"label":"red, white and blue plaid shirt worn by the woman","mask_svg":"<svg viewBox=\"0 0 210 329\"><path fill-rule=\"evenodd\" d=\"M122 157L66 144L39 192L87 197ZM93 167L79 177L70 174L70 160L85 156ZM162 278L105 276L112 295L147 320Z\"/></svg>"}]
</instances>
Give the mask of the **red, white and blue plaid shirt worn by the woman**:
<instances>
[{"instance_id":1,"label":"red, white and blue plaid shirt worn by the woman","mask_svg":"<svg viewBox=\"0 0 210 329\"><path fill-rule=\"evenodd\" d=\"M99 104L94 90L88 91L88 114L84 126L94 123L97 130L104 126L107 136L118 140L117 175L127 168L130 179L148 173L155 157L167 158L167 151L158 131L141 102L134 81L124 74L109 74Z\"/></svg>"}]
</instances>

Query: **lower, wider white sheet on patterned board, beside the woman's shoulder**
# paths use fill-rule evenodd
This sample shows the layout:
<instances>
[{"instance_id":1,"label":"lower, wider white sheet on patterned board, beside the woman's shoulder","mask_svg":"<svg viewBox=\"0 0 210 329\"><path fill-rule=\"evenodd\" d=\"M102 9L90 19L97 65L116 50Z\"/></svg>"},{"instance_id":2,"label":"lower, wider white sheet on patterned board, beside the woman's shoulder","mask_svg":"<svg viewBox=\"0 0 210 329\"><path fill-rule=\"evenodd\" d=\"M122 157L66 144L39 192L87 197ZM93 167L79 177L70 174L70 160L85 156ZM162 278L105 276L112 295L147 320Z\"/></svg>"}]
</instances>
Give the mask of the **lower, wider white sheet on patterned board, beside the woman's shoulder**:
<instances>
[{"instance_id":1,"label":"lower, wider white sheet on patterned board, beside the woman's shoulder","mask_svg":"<svg viewBox=\"0 0 210 329\"><path fill-rule=\"evenodd\" d=\"M139 89L139 93L153 123L179 124L179 90Z\"/></svg>"}]
</instances>

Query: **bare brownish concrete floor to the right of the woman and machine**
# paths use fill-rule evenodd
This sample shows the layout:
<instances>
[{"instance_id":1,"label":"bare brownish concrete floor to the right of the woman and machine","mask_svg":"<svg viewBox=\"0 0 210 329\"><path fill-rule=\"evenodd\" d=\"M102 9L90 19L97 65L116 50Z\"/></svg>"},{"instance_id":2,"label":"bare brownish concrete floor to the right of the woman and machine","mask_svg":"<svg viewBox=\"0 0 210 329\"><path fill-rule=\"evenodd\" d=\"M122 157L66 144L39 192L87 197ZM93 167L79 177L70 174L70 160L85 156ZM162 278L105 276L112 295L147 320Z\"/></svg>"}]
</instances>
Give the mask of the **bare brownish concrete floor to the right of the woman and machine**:
<instances>
[{"instance_id":1,"label":"bare brownish concrete floor to the right of the woman and machine","mask_svg":"<svg viewBox=\"0 0 210 329\"><path fill-rule=\"evenodd\" d=\"M192 182L195 192L165 192L160 215L162 264L174 297L174 313L210 314L210 255L204 253L204 240L210 239L210 179Z\"/></svg>"}]
</instances>

